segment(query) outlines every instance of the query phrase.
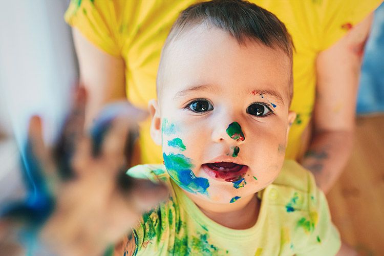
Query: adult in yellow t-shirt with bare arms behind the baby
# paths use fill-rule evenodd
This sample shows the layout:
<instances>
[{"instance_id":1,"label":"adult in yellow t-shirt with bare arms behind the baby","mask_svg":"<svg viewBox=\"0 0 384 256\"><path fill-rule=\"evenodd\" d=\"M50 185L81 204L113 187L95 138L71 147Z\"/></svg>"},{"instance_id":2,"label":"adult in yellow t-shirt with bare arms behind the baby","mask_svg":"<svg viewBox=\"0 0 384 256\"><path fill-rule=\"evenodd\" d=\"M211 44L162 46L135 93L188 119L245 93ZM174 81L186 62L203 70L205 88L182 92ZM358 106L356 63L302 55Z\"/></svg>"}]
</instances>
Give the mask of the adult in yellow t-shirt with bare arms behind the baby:
<instances>
[{"instance_id":1,"label":"adult in yellow t-shirt with bare arms behind the baby","mask_svg":"<svg viewBox=\"0 0 384 256\"><path fill-rule=\"evenodd\" d=\"M103 104L126 98L146 108L156 98L163 42L181 10L196 0L73 0L65 18L73 29L80 80L90 92L90 124ZM281 19L296 49L293 58L297 113L286 157L311 170L328 191L352 148L362 50L380 0L257 0ZM138 163L162 162L141 124ZM271 127L273 129L273 127Z\"/></svg>"}]
</instances>

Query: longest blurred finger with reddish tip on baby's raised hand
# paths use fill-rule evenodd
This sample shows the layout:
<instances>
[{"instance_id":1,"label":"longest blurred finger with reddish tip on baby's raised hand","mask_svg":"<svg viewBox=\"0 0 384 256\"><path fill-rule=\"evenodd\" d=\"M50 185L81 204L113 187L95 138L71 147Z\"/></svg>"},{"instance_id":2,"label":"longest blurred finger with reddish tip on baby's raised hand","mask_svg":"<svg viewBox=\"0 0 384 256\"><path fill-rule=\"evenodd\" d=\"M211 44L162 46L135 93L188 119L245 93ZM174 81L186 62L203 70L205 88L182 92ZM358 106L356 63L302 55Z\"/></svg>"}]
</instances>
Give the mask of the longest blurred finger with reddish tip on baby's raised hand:
<instances>
[{"instance_id":1,"label":"longest blurred finger with reddish tip on baby's raised hand","mask_svg":"<svg viewBox=\"0 0 384 256\"><path fill-rule=\"evenodd\" d=\"M84 121L86 111L86 90L83 87L76 89L73 105L66 118L54 149L54 158L62 179L68 180L74 177L71 160L76 146L84 137Z\"/></svg>"}]
</instances>

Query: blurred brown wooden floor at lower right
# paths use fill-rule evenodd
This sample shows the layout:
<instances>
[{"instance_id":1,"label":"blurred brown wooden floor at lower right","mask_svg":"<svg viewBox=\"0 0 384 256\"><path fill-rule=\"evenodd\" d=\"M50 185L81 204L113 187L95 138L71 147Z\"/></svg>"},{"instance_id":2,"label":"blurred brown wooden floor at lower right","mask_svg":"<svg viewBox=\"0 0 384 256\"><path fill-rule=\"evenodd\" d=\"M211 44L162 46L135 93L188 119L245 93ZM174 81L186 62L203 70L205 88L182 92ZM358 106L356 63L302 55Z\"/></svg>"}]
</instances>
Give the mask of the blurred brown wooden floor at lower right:
<instances>
[{"instance_id":1,"label":"blurred brown wooden floor at lower right","mask_svg":"<svg viewBox=\"0 0 384 256\"><path fill-rule=\"evenodd\" d=\"M327 198L342 239L384 255L384 115L357 119L352 157Z\"/></svg>"}]
</instances>

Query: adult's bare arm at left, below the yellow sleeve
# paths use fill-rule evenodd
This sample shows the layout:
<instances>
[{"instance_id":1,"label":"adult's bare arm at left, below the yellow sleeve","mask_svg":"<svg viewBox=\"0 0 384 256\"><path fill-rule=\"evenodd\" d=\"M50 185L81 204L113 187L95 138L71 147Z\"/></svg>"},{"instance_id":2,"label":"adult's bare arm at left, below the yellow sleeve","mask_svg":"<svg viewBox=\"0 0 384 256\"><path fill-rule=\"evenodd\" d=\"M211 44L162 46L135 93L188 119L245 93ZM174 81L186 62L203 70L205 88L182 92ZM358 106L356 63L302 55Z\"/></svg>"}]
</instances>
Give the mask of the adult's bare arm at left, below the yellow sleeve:
<instances>
[{"instance_id":1,"label":"adult's bare arm at left, below the yellow sleeve","mask_svg":"<svg viewBox=\"0 0 384 256\"><path fill-rule=\"evenodd\" d=\"M76 28L72 29L80 69L80 83L88 91L86 127L106 103L125 99L124 60L94 46Z\"/></svg>"}]
</instances>

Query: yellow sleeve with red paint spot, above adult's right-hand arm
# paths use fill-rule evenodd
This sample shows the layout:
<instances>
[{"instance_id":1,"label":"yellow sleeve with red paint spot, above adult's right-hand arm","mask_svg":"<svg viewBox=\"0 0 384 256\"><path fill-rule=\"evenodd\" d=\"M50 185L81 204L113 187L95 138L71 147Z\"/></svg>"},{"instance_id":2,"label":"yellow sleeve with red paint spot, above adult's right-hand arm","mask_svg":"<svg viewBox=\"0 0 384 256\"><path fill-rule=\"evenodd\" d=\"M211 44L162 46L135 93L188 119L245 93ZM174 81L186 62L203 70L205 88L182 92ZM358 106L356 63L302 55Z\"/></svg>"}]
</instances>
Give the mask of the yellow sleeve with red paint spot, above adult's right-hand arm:
<instances>
[{"instance_id":1,"label":"yellow sleeve with red paint spot, above adult's right-hand arm","mask_svg":"<svg viewBox=\"0 0 384 256\"><path fill-rule=\"evenodd\" d=\"M316 1L318 2L318 1ZM323 0L319 6L319 50L325 50L372 13L381 0Z\"/></svg>"}]
</instances>

